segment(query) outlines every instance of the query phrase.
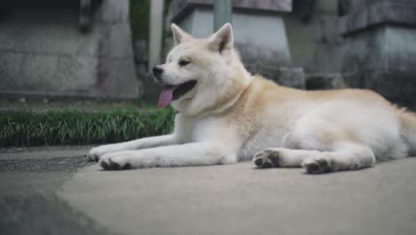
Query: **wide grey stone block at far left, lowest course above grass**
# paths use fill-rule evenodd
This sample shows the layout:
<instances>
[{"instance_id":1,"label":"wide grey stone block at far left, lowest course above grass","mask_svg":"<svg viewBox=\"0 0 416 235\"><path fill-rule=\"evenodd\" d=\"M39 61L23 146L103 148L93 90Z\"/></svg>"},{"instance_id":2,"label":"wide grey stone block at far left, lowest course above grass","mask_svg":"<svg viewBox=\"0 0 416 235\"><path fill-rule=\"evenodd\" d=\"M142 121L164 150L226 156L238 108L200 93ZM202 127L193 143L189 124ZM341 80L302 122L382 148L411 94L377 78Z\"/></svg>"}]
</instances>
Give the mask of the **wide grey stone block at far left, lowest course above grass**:
<instances>
[{"instance_id":1,"label":"wide grey stone block at far left, lowest course above grass","mask_svg":"<svg viewBox=\"0 0 416 235\"><path fill-rule=\"evenodd\" d=\"M0 53L0 61L3 58L19 66L15 69L8 66L6 73L2 71L2 92L88 96L88 91L96 84L98 60L93 57Z\"/></svg>"}]
</instances>

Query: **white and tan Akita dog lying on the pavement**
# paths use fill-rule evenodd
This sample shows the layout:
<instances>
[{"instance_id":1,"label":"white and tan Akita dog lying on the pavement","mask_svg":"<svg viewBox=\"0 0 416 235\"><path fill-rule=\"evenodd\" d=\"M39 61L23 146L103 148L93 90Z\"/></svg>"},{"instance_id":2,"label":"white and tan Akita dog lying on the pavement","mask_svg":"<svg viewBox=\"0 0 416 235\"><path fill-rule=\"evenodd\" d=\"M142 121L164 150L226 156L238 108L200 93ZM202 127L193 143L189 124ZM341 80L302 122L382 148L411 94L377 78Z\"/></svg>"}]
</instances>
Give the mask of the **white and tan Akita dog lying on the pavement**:
<instances>
[{"instance_id":1,"label":"white and tan Akita dog lying on the pavement","mask_svg":"<svg viewBox=\"0 0 416 235\"><path fill-rule=\"evenodd\" d=\"M196 39L172 24L175 47L153 69L159 106L180 113L172 134L93 148L108 170L208 166L253 159L310 174L416 154L416 116L366 90L302 91L252 76L228 23Z\"/></svg>"}]
</instances>

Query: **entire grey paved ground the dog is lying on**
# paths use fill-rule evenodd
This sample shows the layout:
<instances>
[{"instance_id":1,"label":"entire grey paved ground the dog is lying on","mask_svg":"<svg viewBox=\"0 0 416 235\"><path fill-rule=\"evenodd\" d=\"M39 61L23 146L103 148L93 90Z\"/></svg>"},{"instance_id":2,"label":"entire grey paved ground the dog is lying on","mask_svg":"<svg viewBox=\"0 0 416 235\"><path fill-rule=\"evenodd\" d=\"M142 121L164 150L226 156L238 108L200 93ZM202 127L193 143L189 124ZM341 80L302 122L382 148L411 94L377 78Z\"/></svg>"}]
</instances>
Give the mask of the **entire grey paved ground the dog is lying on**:
<instances>
[{"instance_id":1,"label":"entire grey paved ground the dog is lying on","mask_svg":"<svg viewBox=\"0 0 416 235\"><path fill-rule=\"evenodd\" d=\"M84 152L3 150L1 233L416 234L416 158L323 175L251 163L105 172Z\"/></svg>"}]
</instances>

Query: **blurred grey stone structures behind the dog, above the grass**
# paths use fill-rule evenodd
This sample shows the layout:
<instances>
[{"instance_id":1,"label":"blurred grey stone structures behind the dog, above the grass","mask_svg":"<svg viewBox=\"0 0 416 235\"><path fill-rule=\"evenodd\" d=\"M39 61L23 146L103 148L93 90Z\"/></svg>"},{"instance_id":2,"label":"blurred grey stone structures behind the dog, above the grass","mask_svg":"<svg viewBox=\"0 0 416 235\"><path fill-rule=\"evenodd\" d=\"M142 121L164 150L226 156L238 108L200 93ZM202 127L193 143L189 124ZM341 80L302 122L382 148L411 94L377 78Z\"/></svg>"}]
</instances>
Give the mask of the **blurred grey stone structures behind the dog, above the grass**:
<instances>
[{"instance_id":1,"label":"blurred grey stone structures behind the dog, above the grass","mask_svg":"<svg viewBox=\"0 0 416 235\"><path fill-rule=\"evenodd\" d=\"M171 22L194 36L209 36L213 4L3 0L0 95L155 102L158 87L148 69L162 63L172 47ZM232 16L225 19L232 21L236 47L252 73L302 89L369 88L414 105L415 1L235 0L232 5Z\"/></svg>"}]
</instances>

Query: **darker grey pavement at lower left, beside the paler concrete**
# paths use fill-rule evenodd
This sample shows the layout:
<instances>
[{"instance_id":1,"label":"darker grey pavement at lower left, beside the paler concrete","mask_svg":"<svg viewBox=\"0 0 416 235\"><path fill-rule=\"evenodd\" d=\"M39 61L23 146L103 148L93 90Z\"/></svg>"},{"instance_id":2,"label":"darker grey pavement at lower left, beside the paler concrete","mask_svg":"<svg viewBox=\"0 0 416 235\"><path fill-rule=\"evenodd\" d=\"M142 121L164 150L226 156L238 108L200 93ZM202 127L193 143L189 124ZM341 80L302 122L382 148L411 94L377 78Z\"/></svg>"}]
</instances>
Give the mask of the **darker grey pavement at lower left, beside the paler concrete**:
<instances>
[{"instance_id":1,"label":"darker grey pavement at lower left, beside the paler concrete","mask_svg":"<svg viewBox=\"0 0 416 235\"><path fill-rule=\"evenodd\" d=\"M116 234L57 197L85 148L0 150L0 234Z\"/></svg>"}]
</instances>

